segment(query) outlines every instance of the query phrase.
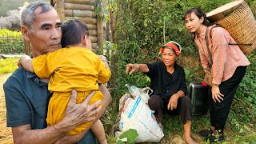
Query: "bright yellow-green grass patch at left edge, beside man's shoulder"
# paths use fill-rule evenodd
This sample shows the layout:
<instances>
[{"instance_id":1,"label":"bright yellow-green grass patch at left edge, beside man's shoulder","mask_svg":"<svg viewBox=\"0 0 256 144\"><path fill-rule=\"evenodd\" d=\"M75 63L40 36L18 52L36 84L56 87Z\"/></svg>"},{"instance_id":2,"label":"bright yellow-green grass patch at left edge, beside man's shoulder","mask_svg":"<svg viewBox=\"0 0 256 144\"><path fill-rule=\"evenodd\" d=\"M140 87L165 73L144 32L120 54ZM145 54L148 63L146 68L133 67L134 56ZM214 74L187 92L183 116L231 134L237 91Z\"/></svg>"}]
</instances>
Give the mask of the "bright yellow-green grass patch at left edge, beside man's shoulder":
<instances>
[{"instance_id":1,"label":"bright yellow-green grass patch at left edge, beside man's shoulder","mask_svg":"<svg viewBox=\"0 0 256 144\"><path fill-rule=\"evenodd\" d=\"M13 73L18 68L18 58L6 58L0 60L0 74Z\"/></svg>"}]
</instances>

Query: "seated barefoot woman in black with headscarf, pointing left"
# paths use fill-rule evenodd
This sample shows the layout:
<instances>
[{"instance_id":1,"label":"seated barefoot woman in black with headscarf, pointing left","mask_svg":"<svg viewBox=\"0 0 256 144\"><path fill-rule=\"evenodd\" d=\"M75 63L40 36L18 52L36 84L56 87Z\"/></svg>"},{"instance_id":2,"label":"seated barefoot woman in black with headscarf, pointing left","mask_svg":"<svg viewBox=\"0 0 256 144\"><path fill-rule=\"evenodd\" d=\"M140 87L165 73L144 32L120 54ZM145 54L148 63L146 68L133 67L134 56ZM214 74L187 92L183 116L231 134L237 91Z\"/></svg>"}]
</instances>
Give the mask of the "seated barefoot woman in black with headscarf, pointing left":
<instances>
[{"instance_id":1,"label":"seated barefoot woman in black with headscarf, pointing left","mask_svg":"<svg viewBox=\"0 0 256 144\"><path fill-rule=\"evenodd\" d=\"M160 49L162 62L150 64L127 64L126 74L135 71L145 73L150 78L149 106L155 111L158 121L162 123L163 113L180 114L183 122L183 139L189 144L195 143L190 135L192 104L186 96L186 75L176 61L181 53L177 42L168 42Z\"/></svg>"}]
</instances>

